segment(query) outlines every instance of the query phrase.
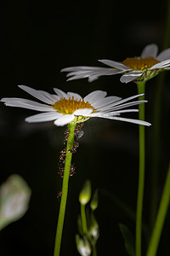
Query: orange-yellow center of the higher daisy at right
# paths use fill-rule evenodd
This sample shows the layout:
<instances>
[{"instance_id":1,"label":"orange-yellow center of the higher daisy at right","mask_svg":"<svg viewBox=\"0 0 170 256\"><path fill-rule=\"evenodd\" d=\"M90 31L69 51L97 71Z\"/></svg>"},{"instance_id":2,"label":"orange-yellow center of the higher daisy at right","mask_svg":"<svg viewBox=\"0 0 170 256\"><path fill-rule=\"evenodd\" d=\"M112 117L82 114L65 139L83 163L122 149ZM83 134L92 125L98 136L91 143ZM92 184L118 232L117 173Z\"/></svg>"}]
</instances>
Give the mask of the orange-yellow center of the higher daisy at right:
<instances>
[{"instance_id":1,"label":"orange-yellow center of the higher daisy at right","mask_svg":"<svg viewBox=\"0 0 170 256\"><path fill-rule=\"evenodd\" d=\"M150 68L160 61L157 61L154 57L147 57L147 58L127 58L126 60L122 61L122 64L124 64L127 67L132 68L133 70L144 70L147 68Z\"/></svg>"}]
</instances>

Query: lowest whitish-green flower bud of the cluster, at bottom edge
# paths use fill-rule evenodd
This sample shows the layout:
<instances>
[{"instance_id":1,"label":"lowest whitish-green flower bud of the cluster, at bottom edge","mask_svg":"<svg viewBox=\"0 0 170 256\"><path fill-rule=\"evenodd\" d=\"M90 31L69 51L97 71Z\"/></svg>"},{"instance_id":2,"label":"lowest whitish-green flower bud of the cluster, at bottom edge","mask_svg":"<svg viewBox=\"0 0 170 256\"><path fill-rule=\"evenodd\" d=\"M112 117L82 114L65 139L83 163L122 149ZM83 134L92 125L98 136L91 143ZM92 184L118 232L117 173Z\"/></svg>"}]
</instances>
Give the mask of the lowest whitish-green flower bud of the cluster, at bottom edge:
<instances>
[{"instance_id":1,"label":"lowest whitish-green flower bud of the cluster, at bottom edge","mask_svg":"<svg viewBox=\"0 0 170 256\"><path fill-rule=\"evenodd\" d=\"M89 256L91 254L91 246L86 236L83 239L77 234L76 235L76 242L77 242L77 251L82 256Z\"/></svg>"}]
</instances>

